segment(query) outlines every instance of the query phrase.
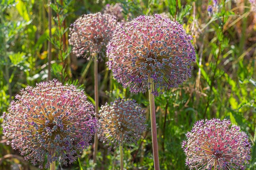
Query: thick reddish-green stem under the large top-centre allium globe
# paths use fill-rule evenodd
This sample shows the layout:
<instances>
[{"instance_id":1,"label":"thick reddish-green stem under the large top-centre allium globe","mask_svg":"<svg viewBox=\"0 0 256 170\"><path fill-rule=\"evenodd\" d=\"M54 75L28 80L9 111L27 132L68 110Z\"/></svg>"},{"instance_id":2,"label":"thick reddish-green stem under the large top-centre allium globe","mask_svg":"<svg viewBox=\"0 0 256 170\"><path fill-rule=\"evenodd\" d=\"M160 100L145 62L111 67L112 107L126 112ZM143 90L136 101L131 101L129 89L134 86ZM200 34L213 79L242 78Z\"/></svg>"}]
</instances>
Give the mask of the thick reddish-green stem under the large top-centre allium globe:
<instances>
[{"instance_id":1,"label":"thick reddish-green stem under the large top-centre allium globe","mask_svg":"<svg viewBox=\"0 0 256 170\"><path fill-rule=\"evenodd\" d=\"M155 166L155 170L160 170L159 156L158 156L158 144L157 144L157 125L156 125L156 118L155 118L155 97L152 94L154 82L153 82L152 78L150 78L150 83L152 84L152 87L148 90L148 93L149 93L149 106L150 106L150 120L151 120L154 166Z\"/></svg>"}]
</instances>

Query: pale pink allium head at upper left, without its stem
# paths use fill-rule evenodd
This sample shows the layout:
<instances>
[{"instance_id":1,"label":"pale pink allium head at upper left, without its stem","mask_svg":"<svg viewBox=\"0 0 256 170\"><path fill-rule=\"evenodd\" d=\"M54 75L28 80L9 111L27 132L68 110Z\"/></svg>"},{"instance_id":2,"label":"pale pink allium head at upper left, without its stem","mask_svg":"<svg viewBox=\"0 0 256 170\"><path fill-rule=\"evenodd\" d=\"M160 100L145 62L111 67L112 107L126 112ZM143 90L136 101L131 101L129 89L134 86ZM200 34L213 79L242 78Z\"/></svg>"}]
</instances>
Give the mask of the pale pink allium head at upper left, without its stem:
<instances>
[{"instance_id":1,"label":"pale pink allium head at upper left, without its stem","mask_svg":"<svg viewBox=\"0 0 256 170\"><path fill-rule=\"evenodd\" d=\"M83 15L70 25L69 44L77 57L86 57L88 53L104 55L104 49L115 30L115 16L107 13ZM89 56L89 58L92 55Z\"/></svg>"}]
</instances>

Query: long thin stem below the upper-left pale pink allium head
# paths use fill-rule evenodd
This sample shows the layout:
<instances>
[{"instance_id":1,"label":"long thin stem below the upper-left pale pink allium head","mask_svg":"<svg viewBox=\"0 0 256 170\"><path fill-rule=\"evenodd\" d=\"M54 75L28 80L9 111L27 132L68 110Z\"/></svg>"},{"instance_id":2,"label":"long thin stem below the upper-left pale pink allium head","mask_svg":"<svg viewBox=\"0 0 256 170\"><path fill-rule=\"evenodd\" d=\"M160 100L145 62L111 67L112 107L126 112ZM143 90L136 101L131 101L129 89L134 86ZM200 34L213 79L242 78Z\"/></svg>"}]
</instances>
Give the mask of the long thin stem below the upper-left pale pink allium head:
<instances>
[{"instance_id":1,"label":"long thin stem below the upper-left pale pink allium head","mask_svg":"<svg viewBox=\"0 0 256 170\"><path fill-rule=\"evenodd\" d=\"M99 114L99 91L98 91L98 58L97 53L94 53L94 100L95 100L95 117L98 118ZM94 135L94 150L93 150L93 163L96 163L98 150L98 136ZM95 167L94 167L95 170Z\"/></svg>"}]
</instances>

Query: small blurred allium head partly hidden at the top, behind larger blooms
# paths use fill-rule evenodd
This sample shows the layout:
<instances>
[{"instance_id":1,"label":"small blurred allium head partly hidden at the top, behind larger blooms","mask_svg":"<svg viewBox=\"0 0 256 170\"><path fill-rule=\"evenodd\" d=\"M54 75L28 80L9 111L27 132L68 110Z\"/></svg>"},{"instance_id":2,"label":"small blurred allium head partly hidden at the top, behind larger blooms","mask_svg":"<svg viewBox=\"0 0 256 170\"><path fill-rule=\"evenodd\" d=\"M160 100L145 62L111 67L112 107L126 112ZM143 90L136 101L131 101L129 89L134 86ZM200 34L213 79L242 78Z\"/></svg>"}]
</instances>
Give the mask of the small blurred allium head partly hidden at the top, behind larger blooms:
<instances>
[{"instance_id":1,"label":"small blurred allium head partly hidden at the top, behind larger blooms","mask_svg":"<svg viewBox=\"0 0 256 170\"><path fill-rule=\"evenodd\" d=\"M124 9L122 8L121 3L113 4L106 4L106 6L103 9L103 13L108 13L110 15L114 15L116 17L116 20L121 22L124 21Z\"/></svg>"}]
</instances>

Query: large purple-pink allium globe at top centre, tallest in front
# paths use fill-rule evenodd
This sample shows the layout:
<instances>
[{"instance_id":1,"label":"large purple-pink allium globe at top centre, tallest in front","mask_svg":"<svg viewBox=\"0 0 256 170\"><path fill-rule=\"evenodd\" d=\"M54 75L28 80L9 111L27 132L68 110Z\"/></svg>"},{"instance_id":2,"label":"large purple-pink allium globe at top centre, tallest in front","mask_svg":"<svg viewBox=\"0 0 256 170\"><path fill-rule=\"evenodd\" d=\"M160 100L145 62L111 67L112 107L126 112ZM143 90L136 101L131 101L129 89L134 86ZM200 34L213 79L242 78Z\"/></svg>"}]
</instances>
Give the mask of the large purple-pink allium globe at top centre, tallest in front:
<instances>
[{"instance_id":1,"label":"large purple-pink allium globe at top centre, tallest in front","mask_svg":"<svg viewBox=\"0 0 256 170\"><path fill-rule=\"evenodd\" d=\"M191 77L195 61L191 40L177 22L158 14L141 15L114 31L107 46L107 64L114 78L131 92L153 88L157 95Z\"/></svg>"}]
</instances>

